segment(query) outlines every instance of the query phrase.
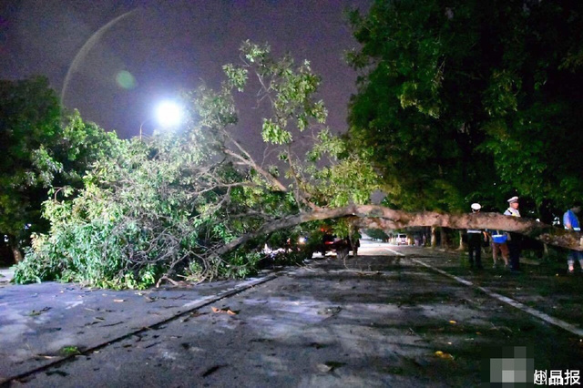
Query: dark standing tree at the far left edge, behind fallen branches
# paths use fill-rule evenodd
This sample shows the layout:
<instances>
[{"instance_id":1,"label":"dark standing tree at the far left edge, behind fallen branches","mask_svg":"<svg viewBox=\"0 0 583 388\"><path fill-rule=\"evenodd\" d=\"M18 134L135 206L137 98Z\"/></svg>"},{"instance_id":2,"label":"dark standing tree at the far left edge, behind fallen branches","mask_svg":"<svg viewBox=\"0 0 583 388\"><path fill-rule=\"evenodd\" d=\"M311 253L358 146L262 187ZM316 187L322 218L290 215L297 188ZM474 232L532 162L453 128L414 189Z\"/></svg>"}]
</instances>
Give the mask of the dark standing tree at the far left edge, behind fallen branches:
<instances>
[{"instance_id":1,"label":"dark standing tree at the far left edge, behind fallen branches","mask_svg":"<svg viewBox=\"0 0 583 388\"><path fill-rule=\"evenodd\" d=\"M60 117L46 79L0 82L0 232L8 237L16 261L22 260L28 230L46 228L40 203L51 177L39 167L46 147L54 143Z\"/></svg>"}]
</instances>

